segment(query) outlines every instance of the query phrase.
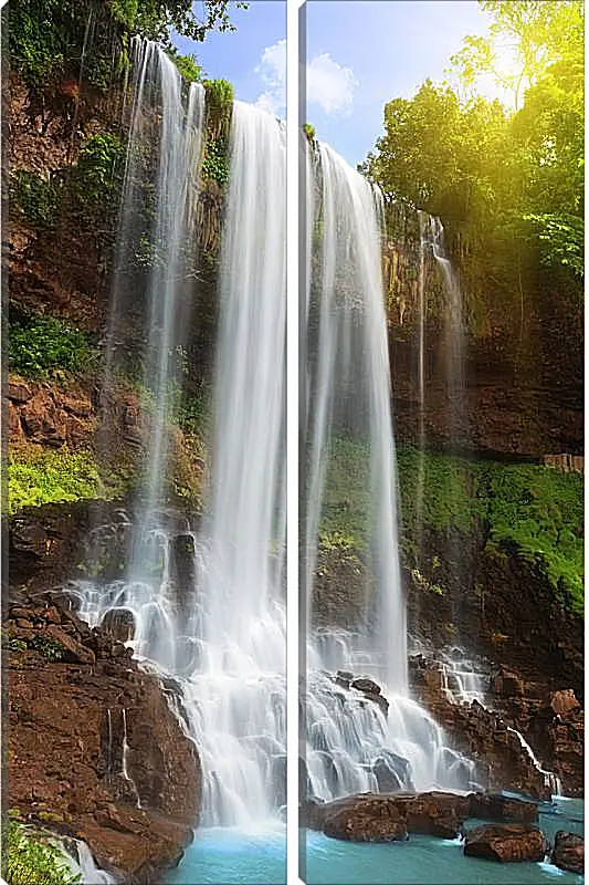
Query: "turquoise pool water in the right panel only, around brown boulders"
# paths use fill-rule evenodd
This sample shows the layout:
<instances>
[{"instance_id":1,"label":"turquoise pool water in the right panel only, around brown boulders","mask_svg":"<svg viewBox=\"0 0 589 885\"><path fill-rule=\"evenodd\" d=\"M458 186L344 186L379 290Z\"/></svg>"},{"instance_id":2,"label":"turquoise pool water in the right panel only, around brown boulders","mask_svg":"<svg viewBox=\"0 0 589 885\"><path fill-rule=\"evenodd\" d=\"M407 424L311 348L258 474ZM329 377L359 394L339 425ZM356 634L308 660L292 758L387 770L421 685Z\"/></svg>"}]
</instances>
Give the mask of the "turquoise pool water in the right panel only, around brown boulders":
<instances>
[{"instance_id":1,"label":"turquoise pool water in the right panel only, around brown boulders","mask_svg":"<svg viewBox=\"0 0 589 885\"><path fill-rule=\"evenodd\" d=\"M558 800L556 813L540 814L548 839L557 830L582 835L583 803ZM466 830L478 821L466 821ZM305 871L306 862L306 871ZM306 872L306 875L305 875ZM302 878L309 885L578 885L582 876L551 864L499 864L465 857L460 840L411 836L375 845L328 839L308 831Z\"/></svg>"}]
</instances>

